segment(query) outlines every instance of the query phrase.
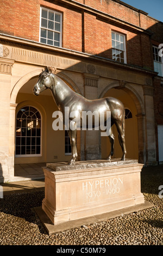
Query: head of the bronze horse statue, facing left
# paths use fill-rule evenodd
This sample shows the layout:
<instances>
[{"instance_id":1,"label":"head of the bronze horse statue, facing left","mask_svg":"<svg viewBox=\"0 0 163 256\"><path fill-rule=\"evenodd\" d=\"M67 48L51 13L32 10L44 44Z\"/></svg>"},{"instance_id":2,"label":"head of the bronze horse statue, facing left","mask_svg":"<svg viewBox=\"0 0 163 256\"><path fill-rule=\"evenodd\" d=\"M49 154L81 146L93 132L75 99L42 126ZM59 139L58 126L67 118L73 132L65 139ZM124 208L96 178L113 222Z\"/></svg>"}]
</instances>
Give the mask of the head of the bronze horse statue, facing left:
<instances>
[{"instance_id":1,"label":"head of the bronze horse statue, facing left","mask_svg":"<svg viewBox=\"0 0 163 256\"><path fill-rule=\"evenodd\" d=\"M53 85L53 75L55 74L56 69L54 67L47 67L45 70L42 70L41 74L39 75L39 79L33 88L33 93L35 95L39 95L46 89L52 89Z\"/></svg>"}]
</instances>

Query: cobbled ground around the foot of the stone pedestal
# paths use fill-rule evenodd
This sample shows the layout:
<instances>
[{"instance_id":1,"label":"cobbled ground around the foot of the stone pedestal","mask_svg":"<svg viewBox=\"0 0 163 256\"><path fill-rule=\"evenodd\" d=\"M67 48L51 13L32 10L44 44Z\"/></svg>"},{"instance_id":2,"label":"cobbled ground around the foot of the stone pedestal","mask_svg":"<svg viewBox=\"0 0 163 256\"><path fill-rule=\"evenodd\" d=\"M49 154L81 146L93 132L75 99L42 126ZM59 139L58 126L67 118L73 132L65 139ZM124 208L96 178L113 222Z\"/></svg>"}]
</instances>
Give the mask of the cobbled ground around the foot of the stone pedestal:
<instances>
[{"instance_id":1,"label":"cobbled ground around the foot of the stone pedestal","mask_svg":"<svg viewBox=\"0 0 163 256\"><path fill-rule=\"evenodd\" d=\"M155 174L146 170L141 187L153 208L53 235L47 235L33 210L41 205L43 191L4 196L0 199L0 245L163 245L163 198L158 196L163 166Z\"/></svg>"}]
</instances>

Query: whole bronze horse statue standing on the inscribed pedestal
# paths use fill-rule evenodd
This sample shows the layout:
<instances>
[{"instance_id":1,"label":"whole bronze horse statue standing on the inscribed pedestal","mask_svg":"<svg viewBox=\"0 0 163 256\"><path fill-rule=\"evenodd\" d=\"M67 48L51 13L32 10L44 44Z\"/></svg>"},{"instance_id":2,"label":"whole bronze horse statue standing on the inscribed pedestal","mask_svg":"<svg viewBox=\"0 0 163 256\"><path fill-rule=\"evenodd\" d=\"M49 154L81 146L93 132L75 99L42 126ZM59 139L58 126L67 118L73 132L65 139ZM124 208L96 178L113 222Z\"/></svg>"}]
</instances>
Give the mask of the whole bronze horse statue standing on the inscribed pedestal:
<instances>
[{"instance_id":1,"label":"whole bronze horse statue standing on the inscribed pedestal","mask_svg":"<svg viewBox=\"0 0 163 256\"><path fill-rule=\"evenodd\" d=\"M39 75L39 79L33 88L33 93L39 95L46 89L50 89L54 98L55 103L58 106L59 111L65 114L65 107L70 109L70 113L73 111L78 111L80 113L80 119L82 119L83 111L97 111L99 114L104 114L106 122L106 112L111 113L111 125L109 139L111 143L111 151L107 160L111 161L111 156L114 154L114 135L111 131L111 126L116 125L118 131L118 139L122 148L122 161L125 161L126 157L126 144L125 144L125 109L121 101L113 97L105 97L103 99L97 100L87 100L82 95L79 95L67 86L67 84L61 80L57 75L55 75L54 69L46 67L45 70ZM63 115L64 117L64 115ZM65 120L63 120L64 122ZM72 121L72 118L69 118ZM64 123L65 124L65 123ZM75 124L74 124L75 126ZM95 126L94 126L95 127ZM76 148L76 129L69 129L68 135L70 136L72 155L71 160L68 164L74 164L77 159L77 148Z\"/></svg>"}]
</instances>

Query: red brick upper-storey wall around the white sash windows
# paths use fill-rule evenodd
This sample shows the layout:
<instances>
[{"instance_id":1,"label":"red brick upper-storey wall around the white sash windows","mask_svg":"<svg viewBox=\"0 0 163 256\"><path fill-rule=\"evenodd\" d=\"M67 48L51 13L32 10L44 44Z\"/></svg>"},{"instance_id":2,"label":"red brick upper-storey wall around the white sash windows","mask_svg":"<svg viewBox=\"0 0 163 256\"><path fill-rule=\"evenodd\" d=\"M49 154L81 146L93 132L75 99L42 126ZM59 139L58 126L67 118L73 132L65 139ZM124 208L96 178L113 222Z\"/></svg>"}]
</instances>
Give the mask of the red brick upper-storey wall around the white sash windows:
<instances>
[{"instance_id":1,"label":"red brick upper-storey wall around the white sash windows","mask_svg":"<svg viewBox=\"0 0 163 256\"><path fill-rule=\"evenodd\" d=\"M74 1L73 1L74 2ZM77 0L97 10L108 13L133 25L150 29L152 39L163 43L162 23L127 8L117 0ZM54 4L55 3L55 4ZM82 11L60 1L5 0L0 8L0 32L24 39L39 41L40 6L63 13L62 47L96 54L111 59L111 30L126 35L127 63L153 69L152 44L149 35L130 27L116 26L111 21L100 20L88 11ZM162 40L162 41L161 41ZM154 42L155 42L154 41Z\"/></svg>"}]
</instances>

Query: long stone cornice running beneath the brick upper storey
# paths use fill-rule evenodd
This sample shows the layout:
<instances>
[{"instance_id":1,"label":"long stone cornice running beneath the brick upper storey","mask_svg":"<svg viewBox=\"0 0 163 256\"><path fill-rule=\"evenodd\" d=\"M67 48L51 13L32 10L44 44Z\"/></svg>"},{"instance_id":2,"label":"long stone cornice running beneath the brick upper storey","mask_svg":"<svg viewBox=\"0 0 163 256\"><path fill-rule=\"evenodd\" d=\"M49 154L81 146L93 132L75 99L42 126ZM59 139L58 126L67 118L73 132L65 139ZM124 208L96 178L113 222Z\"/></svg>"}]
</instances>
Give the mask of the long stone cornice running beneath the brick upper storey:
<instances>
[{"instance_id":1,"label":"long stone cornice running beneath the brick upper storey","mask_svg":"<svg viewBox=\"0 0 163 256\"><path fill-rule=\"evenodd\" d=\"M24 58L23 60L23 54L28 54L27 52L34 52L35 54L47 54L47 57L51 55L51 57L61 57L61 58L67 58L73 60L73 62L80 63L79 65L82 65L82 62L87 62L87 63L93 63L93 64L99 64L99 65L104 65L108 66L110 68L115 68L119 70L128 70L131 72L138 72L139 74L142 73L142 75L150 75L151 77L154 77L157 75L156 72L151 71L151 70L146 70L143 68L139 68L137 66L131 66L129 64L121 64L114 62L111 59L106 59L102 57L98 57L95 55L83 53L83 52L77 52L65 48L59 48L59 47L53 47L53 46L48 46L44 44L40 44L40 42L35 42L35 41L30 41L22 38L16 38L14 36L10 35L4 35L0 33L0 44L4 44L7 46L12 47L12 54L11 54L11 59L14 59L15 62L23 62L23 63L30 63L30 64L39 64L41 66L45 66L46 64L43 63L37 63L37 62L32 62L31 56L26 56L28 58ZM17 52L17 53L16 53ZM19 54L19 58L16 58L15 54ZM22 58L21 58L22 54ZM29 53L33 54L33 53ZM45 62L44 62L45 63ZM74 65L74 63L72 65ZM76 63L76 64L77 64Z\"/></svg>"}]
</instances>

